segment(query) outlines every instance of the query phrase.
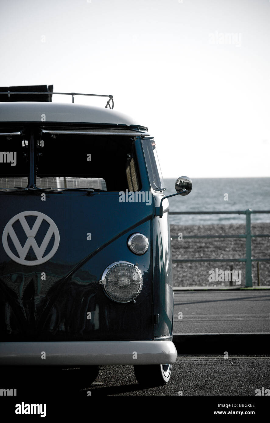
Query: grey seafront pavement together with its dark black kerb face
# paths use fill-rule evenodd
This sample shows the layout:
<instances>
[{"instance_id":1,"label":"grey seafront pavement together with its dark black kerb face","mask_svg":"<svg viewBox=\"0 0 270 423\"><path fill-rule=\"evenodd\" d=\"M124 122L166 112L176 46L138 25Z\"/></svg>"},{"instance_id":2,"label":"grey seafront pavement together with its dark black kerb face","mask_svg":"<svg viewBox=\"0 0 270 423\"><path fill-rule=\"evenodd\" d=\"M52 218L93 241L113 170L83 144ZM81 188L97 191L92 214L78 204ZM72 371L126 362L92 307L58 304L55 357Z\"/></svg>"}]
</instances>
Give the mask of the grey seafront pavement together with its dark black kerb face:
<instances>
[{"instance_id":1,"label":"grey seafront pavement together with its dark black kerb face","mask_svg":"<svg viewBox=\"0 0 270 423\"><path fill-rule=\"evenodd\" d=\"M174 344L179 354L268 354L270 290L175 291Z\"/></svg>"}]
</instances>

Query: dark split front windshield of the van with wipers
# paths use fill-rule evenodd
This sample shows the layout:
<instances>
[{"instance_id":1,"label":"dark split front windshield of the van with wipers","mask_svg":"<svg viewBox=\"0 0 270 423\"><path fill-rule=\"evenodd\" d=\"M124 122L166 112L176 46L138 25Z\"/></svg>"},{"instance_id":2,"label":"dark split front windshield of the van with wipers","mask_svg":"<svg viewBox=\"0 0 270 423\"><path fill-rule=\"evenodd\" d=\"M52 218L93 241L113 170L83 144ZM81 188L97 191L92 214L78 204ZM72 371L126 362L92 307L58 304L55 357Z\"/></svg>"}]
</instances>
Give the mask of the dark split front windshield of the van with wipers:
<instances>
[{"instance_id":1,"label":"dark split front windshield of the van with wipers","mask_svg":"<svg viewBox=\"0 0 270 423\"><path fill-rule=\"evenodd\" d=\"M0 131L4 132L4 131ZM0 136L0 189L28 186L28 173L34 160L36 187L138 191L138 166L134 137L117 135L31 134ZM33 132L32 132L33 134Z\"/></svg>"}]
</instances>

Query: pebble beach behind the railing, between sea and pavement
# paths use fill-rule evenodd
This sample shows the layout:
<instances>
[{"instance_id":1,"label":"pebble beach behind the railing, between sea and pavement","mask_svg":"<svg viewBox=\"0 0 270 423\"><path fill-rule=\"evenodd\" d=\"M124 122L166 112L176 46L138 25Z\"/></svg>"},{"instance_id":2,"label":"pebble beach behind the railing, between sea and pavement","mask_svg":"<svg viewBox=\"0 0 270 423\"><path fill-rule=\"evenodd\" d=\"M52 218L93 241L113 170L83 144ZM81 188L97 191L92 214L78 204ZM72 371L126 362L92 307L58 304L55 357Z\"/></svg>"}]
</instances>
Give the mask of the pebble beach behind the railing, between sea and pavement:
<instances>
[{"instance_id":1,"label":"pebble beach behind the railing, between sea and pavement","mask_svg":"<svg viewBox=\"0 0 270 423\"><path fill-rule=\"evenodd\" d=\"M232 282L232 286L245 286L245 263L230 261L230 258L245 258L245 238L185 238L187 235L245 234L245 225L170 225L170 228L171 236L179 236L179 233L182 233L182 240L181 235L179 236L180 239L171 240L173 259L228 258L226 262L173 263L174 286L230 286L228 277L227 280L224 277L224 281L211 280L213 279L211 277L213 272L211 271L214 271L216 274L219 271L225 272L232 269L235 275L241 278L241 284L236 284L236 281L234 281ZM251 234L268 234L267 237L252 238L252 258L270 259L270 223L251 224ZM218 271L215 269L218 269ZM222 272L219 274L222 275ZM268 262L259 262L259 274L257 261L252 262L252 275L253 286L270 286L270 260Z\"/></svg>"}]
</instances>

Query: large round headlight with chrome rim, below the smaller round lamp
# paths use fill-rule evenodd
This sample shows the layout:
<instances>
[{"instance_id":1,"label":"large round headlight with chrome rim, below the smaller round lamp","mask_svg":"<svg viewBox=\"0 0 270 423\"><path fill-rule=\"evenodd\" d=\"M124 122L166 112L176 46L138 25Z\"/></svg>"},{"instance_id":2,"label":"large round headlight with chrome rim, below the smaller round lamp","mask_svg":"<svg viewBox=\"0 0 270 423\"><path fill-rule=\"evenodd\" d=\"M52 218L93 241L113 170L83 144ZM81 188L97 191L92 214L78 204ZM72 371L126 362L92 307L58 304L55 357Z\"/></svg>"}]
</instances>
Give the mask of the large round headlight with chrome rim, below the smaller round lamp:
<instances>
[{"instance_id":1,"label":"large round headlight with chrome rim, below the smaller round lamp","mask_svg":"<svg viewBox=\"0 0 270 423\"><path fill-rule=\"evenodd\" d=\"M116 261L103 272L102 283L105 294L116 302L130 302L140 294L143 277L138 266L128 261Z\"/></svg>"}]
</instances>

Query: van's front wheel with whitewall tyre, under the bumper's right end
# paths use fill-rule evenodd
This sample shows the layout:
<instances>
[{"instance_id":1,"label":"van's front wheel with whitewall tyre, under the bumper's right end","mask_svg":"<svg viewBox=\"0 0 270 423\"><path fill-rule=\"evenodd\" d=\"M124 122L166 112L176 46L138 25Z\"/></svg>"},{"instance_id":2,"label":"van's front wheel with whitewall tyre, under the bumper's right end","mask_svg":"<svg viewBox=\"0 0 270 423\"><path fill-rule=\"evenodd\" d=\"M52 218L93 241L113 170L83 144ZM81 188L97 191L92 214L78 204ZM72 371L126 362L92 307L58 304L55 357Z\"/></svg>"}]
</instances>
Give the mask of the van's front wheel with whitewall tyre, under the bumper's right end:
<instances>
[{"instance_id":1,"label":"van's front wheel with whitewall tyre, under the bumper's right end","mask_svg":"<svg viewBox=\"0 0 270 423\"><path fill-rule=\"evenodd\" d=\"M141 385L160 386L169 382L171 364L134 365L136 379Z\"/></svg>"}]
</instances>

